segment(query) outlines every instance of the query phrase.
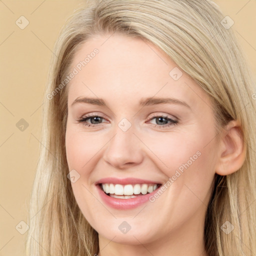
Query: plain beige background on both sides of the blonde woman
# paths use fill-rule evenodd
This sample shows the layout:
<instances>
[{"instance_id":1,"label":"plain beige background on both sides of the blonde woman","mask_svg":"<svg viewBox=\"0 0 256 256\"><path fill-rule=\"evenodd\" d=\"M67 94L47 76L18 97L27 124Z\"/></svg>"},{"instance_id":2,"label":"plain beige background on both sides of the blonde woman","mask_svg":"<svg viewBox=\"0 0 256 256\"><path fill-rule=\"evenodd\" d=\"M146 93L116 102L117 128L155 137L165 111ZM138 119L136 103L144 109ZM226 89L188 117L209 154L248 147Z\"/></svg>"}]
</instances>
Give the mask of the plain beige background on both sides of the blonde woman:
<instances>
[{"instance_id":1,"label":"plain beige background on both sides of the blonde woman","mask_svg":"<svg viewBox=\"0 0 256 256\"><path fill-rule=\"evenodd\" d=\"M54 41L81 0L0 0L0 255L24 255L15 226L27 222L38 159L43 91ZM256 1L216 0L256 73ZM20 29L23 15L29 24ZM24 20L23 20L24 22ZM23 23L22 22L22 23ZM21 22L20 22L21 23ZM24 23L23 23L24 24ZM21 24L20 24L21 25ZM25 119L21 131L16 123ZM22 128L22 126L20 127ZM22 227L21 227L22 226ZM24 228L24 224L18 225ZM17 228L18 229L18 228Z\"/></svg>"}]
</instances>

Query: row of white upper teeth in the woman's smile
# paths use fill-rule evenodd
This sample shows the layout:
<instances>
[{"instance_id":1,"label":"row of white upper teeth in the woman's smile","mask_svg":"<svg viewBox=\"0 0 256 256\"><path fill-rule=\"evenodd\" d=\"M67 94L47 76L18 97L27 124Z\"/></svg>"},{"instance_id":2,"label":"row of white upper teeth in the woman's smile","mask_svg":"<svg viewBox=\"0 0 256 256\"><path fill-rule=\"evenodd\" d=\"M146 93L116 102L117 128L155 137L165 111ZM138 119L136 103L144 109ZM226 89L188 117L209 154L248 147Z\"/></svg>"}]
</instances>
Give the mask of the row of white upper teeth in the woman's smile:
<instances>
[{"instance_id":1,"label":"row of white upper teeth in the woman's smile","mask_svg":"<svg viewBox=\"0 0 256 256\"><path fill-rule=\"evenodd\" d=\"M105 193L117 195L146 194L151 193L157 188L157 184L109 184L103 183L101 187Z\"/></svg>"}]
</instances>

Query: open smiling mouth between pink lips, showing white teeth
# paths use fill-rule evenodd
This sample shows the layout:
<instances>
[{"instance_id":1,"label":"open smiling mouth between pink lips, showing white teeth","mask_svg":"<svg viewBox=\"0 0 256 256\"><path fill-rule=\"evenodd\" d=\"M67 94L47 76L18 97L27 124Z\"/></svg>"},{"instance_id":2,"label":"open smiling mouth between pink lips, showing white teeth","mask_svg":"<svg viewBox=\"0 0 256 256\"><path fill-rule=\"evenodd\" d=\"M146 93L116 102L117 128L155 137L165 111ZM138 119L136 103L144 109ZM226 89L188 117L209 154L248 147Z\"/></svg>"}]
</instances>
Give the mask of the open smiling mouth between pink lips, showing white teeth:
<instances>
[{"instance_id":1,"label":"open smiling mouth between pink lips, showing white teeth","mask_svg":"<svg viewBox=\"0 0 256 256\"><path fill-rule=\"evenodd\" d=\"M108 196L121 199L129 199L137 196L142 196L156 190L161 184L143 183L143 184L113 184L100 183L98 184L101 190Z\"/></svg>"}]
</instances>

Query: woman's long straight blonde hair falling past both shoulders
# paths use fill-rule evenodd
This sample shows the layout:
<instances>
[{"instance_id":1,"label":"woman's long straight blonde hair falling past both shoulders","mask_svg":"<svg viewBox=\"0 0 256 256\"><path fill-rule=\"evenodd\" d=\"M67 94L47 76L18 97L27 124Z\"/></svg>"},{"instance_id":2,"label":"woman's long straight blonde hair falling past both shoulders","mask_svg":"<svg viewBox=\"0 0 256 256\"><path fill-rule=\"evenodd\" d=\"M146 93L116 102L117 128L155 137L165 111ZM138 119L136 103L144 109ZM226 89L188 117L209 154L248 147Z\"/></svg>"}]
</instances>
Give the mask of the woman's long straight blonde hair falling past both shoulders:
<instances>
[{"instance_id":1,"label":"woman's long straight blonde hair falling past both shoulders","mask_svg":"<svg viewBox=\"0 0 256 256\"><path fill-rule=\"evenodd\" d=\"M78 46L96 34L118 32L158 46L210 96L218 132L232 119L241 123L246 159L236 172L215 175L204 241L209 256L252 256L256 254L256 100L252 97L256 88L232 28L221 23L223 18L210 0L90 1L61 31L45 98L67 75ZM67 178L66 96L63 86L44 102L27 255L84 256L99 249L97 232L78 208ZM234 227L228 234L221 230L225 221Z\"/></svg>"}]
</instances>

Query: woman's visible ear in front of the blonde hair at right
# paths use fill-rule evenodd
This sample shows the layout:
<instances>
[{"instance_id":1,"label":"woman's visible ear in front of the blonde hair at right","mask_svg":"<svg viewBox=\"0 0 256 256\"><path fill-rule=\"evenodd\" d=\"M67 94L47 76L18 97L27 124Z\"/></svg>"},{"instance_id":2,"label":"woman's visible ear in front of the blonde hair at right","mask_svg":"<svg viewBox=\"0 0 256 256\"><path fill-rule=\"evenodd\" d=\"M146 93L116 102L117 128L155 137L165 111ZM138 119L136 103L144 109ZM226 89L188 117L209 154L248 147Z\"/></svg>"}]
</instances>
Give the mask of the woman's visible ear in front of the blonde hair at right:
<instances>
[{"instance_id":1,"label":"woman's visible ear in front of the blonde hair at right","mask_svg":"<svg viewBox=\"0 0 256 256\"><path fill-rule=\"evenodd\" d=\"M232 120L224 127L219 142L219 158L216 173L228 175L238 170L246 157L242 128L237 120Z\"/></svg>"}]
</instances>

